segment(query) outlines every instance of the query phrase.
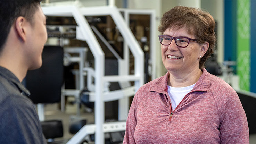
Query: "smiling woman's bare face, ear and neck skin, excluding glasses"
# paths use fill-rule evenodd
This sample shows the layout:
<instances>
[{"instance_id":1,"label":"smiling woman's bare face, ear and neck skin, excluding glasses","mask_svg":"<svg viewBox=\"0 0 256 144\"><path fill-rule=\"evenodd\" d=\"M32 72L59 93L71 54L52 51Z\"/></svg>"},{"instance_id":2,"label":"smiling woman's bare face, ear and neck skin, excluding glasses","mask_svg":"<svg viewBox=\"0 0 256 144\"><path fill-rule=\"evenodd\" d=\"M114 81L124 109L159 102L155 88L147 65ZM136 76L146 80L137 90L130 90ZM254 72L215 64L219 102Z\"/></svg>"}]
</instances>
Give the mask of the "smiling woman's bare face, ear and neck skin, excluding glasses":
<instances>
[{"instance_id":1,"label":"smiling woman's bare face, ear and neck skin, excluding glasses","mask_svg":"<svg viewBox=\"0 0 256 144\"><path fill-rule=\"evenodd\" d=\"M204 56L208 50L209 43L199 44L196 42L195 36L188 34L185 27L179 29L167 28L164 31L164 35L176 37L170 44L161 45L162 61L170 73L168 85L185 87L195 84L202 73L199 69L200 56ZM177 42L179 37L186 37L187 39L187 43L182 42L182 47L180 46L181 42ZM180 59L173 59L172 57L180 57Z\"/></svg>"}]
</instances>

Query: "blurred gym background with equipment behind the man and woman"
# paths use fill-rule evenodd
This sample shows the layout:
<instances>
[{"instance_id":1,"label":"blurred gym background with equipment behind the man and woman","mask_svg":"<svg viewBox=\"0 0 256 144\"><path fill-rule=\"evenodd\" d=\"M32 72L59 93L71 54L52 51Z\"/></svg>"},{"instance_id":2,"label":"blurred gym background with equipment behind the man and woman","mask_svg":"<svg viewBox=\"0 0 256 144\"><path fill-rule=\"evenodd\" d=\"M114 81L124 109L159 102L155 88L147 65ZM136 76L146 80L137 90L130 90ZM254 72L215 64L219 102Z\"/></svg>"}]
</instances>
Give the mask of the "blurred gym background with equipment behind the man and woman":
<instances>
[{"instance_id":1,"label":"blurred gym background with equipment behind the man and woman","mask_svg":"<svg viewBox=\"0 0 256 144\"><path fill-rule=\"evenodd\" d=\"M217 44L206 69L236 90L256 143L255 0L43 0L43 66L24 83L40 120L51 122L42 124L49 143L98 143L95 133L122 143L135 91L167 72L158 26L177 5L215 19Z\"/></svg>"}]
</instances>

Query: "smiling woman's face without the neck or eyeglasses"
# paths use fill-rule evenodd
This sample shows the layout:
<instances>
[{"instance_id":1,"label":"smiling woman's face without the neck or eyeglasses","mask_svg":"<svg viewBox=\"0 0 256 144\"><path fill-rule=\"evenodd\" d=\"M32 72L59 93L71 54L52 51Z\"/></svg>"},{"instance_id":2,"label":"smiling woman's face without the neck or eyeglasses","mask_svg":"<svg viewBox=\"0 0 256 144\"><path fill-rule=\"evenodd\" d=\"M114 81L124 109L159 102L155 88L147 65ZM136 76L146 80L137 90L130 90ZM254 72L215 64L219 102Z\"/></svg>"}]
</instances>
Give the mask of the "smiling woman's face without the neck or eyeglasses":
<instances>
[{"instance_id":1,"label":"smiling woman's face without the neck or eyeglasses","mask_svg":"<svg viewBox=\"0 0 256 144\"><path fill-rule=\"evenodd\" d=\"M180 29L167 28L163 35L172 37L184 36L195 39L195 36L187 33L185 27ZM170 73L188 74L193 70L199 69L200 56L203 57L205 53L202 53L201 49L202 45L195 41L190 41L185 48L177 46L174 40L171 41L170 45L161 44L163 64Z\"/></svg>"}]
</instances>

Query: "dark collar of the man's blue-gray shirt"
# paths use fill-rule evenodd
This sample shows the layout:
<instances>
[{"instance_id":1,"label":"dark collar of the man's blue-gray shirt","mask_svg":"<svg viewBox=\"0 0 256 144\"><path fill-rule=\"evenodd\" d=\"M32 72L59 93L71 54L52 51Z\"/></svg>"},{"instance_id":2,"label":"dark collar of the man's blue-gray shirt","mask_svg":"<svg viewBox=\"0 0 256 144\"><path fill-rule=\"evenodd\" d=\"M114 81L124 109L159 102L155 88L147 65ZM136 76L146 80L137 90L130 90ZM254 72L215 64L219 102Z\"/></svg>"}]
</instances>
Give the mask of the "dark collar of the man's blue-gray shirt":
<instances>
[{"instance_id":1,"label":"dark collar of the man's blue-gray shirt","mask_svg":"<svg viewBox=\"0 0 256 144\"><path fill-rule=\"evenodd\" d=\"M11 71L0 66L0 75L8 79L11 83L15 84L23 95L30 96L30 92L27 90L27 88L20 83L19 79Z\"/></svg>"}]
</instances>

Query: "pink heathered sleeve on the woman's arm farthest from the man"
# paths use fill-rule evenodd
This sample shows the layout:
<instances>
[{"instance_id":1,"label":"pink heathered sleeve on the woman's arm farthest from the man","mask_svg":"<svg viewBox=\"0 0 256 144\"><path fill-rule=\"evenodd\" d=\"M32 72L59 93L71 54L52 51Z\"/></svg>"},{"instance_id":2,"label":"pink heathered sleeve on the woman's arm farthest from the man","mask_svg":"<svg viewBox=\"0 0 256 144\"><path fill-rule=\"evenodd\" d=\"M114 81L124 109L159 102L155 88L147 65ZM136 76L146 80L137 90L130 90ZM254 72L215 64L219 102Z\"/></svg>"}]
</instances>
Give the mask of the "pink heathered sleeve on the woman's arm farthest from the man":
<instances>
[{"instance_id":1,"label":"pink heathered sleeve on the woman's arm farthest from the man","mask_svg":"<svg viewBox=\"0 0 256 144\"><path fill-rule=\"evenodd\" d=\"M245 111L233 88L221 90L217 100L221 144L249 144L249 128Z\"/></svg>"}]
</instances>

